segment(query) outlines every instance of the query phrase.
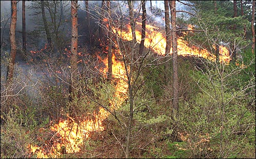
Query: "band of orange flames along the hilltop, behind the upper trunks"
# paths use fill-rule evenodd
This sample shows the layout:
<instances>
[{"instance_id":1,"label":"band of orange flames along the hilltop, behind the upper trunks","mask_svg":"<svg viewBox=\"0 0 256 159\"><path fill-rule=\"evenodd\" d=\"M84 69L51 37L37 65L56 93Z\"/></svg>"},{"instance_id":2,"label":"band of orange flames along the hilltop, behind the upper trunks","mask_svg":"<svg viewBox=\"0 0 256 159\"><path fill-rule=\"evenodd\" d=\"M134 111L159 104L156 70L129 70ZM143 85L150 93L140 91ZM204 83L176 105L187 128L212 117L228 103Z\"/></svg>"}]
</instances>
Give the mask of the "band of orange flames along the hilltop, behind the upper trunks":
<instances>
[{"instance_id":1,"label":"band of orange flames along the hilltop, behind the upper trunks","mask_svg":"<svg viewBox=\"0 0 256 159\"><path fill-rule=\"evenodd\" d=\"M137 26L141 26L140 22L136 22ZM116 30L113 28L114 33L118 34L118 36L121 36L123 40L132 41L132 29L130 25L126 26L126 30L123 30L122 33L120 30ZM141 40L141 31L140 28L136 28L136 40L137 42L140 42ZM188 25L188 30L193 30L192 25ZM187 32L184 32L183 34L187 34ZM216 56L209 53L206 49L199 49L198 47L192 46L189 47L188 43L183 40L183 37L179 37L177 40L178 44L178 55L181 56L195 56L195 57L203 57L212 61L216 60ZM154 50L158 55L164 56L165 55L165 46L166 46L166 38L165 33L161 32L159 28L146 25L146 35L145 35L145 41L144 46L146 48L151 48ZM229 57L229 51L227 48L220 46L220 62L228 63L230 61ZM170 49L170 54L172 54L172 48Z\"/></svg>"}]
</instances>

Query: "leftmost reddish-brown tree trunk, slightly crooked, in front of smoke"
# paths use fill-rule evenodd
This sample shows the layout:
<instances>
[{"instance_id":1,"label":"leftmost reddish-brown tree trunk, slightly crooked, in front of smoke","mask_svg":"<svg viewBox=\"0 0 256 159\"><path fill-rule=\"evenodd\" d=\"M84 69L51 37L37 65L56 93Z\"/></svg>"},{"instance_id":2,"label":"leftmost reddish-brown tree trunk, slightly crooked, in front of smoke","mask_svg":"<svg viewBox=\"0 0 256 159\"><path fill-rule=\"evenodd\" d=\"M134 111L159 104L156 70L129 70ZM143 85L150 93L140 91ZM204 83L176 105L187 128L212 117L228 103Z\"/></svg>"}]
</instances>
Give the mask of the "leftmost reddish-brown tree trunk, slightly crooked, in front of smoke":
<instances>
[{"instance_id":1,"label":"leftmost reddish-brown tree trunk, slightly crooked, in front of smoke","mask_svg":"<svg viewBox=\"0 0 256 159\"><path fill-rule=\"evenodd\" d=\"M16 30L16 22L17 22L17 1L11 1L11 26L10 26L10 61L7 67L7 83L12 83L13 80L13 72L14 72L14 62L16 57L16 39L15 39L15 30Z\"/></svg>"}]
</instances>

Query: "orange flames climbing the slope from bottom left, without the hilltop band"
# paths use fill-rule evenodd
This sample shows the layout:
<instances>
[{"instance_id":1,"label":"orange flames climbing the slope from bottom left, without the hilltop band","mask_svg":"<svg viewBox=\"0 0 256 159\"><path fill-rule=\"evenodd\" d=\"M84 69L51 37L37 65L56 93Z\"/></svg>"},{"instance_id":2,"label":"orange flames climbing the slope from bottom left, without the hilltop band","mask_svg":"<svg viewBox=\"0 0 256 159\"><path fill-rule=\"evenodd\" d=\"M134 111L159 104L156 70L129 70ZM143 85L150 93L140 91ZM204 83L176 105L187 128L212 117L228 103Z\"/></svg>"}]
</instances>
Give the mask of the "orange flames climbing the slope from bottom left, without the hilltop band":
<instances>
[{"instance_id":1,"label":"orange flames climbing the slope from bottom left, without the hilltop band","mask_svg":"<svg viewBox=\"0 0 256 159\"><path fill-rule=\"evenodd\" d=\"M108 57L102 59L102 62L106 65L106 67L108 67ZM115 80L116 88L113 96L117 97L118 101L110 101L110 103L113 108L118 108L120 104L127 98L126 92L128 85L124 80L127 79L124 65L115 57L115 54L112 56L112 62L112 74L113 80ZM101 68L101 72L106 74L107 69ZM80 147L83 145L83 141L89 137L92 131L104 130L102 122L108 116L109 112L104 108L99 108L98 113L94 111L93 119L84 117L80 118L78 122L75 122L73 118L67 115L67 120L61 120L58 124L51 126L51 130L55 133L51 139L53 144L50 149L46 150L42 147L33 145L29 145L27 148L29 149L30 153L36 154L37 158L57 158L64 153L79 152L81 150Z\"/></svg>"}]
</instances>

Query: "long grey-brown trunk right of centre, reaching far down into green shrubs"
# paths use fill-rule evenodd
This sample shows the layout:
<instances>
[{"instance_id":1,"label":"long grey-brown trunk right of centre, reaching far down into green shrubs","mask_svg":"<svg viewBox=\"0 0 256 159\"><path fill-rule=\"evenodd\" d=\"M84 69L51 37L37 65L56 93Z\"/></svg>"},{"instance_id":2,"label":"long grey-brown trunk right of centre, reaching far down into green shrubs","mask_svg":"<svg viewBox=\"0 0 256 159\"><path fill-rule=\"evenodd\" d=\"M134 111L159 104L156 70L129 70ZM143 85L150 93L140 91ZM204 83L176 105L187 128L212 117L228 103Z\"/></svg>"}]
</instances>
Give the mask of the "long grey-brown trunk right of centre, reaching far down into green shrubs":
<instances>
[{"instance_id":1,"label":"long grey-brown trunk right of centre, reaching far down into green shrubs","mask_svg":"<svg viewBox=\"0 0 256 159\"><path fill-rule=\"evenodd\" d=\"M174 117L179 113L179 80L178 80L178 55L176 32L176 1L170 1L170 13L172 15L172 48L173 48L173 112Z\"/></svg>"}]
</instances>

